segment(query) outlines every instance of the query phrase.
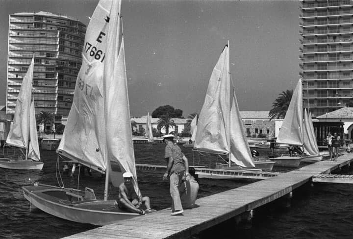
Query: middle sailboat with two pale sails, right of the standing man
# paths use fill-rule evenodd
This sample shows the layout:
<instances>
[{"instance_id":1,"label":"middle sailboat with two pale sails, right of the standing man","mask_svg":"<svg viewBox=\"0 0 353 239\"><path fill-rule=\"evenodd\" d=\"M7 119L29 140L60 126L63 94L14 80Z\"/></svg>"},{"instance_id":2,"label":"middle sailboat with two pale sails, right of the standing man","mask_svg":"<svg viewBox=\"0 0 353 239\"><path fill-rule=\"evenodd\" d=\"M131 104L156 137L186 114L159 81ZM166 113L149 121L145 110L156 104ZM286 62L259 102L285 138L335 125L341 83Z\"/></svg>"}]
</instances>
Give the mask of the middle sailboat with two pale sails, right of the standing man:
<instances>
[{"instance_id":1,"label":"middle sailboat with two pale sails, right of the standing man","mask_svg":"<svg viewBox=\"0 0 353 239\"><path fill-rule=\"evenodd\" d=\"M227 169L261 171L260 164L256 168L252 159L234 89L230 89L228 46L223 49L208 83L194 150L228 157ZM266 163L272 167L275 164L269 160Z\"/></svg>"}]
</instances>

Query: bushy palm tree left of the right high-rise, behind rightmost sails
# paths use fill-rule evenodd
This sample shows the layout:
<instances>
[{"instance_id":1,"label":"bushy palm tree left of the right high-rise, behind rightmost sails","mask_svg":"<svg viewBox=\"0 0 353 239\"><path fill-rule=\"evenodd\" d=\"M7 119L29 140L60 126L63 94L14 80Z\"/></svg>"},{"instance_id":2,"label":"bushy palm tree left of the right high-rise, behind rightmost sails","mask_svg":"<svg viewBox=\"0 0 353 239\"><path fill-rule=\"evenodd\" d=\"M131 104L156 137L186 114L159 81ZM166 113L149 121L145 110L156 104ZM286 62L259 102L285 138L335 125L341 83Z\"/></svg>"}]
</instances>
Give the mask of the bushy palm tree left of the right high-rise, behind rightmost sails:
<instances>
[{"instance_id":1,"label":"bushy palm tree left of the right high-rise, behind rightmost sails","mask_svg":"<svg viewBox=\"0 0 353 239\"><path fill-rule=\"evenodd\" d=\"M269 112L269 117L271 117L271 119L284 119L292 96L293 90L282 91L275 102L272 103L273 108Z\"/></svg>"}]
</instances>

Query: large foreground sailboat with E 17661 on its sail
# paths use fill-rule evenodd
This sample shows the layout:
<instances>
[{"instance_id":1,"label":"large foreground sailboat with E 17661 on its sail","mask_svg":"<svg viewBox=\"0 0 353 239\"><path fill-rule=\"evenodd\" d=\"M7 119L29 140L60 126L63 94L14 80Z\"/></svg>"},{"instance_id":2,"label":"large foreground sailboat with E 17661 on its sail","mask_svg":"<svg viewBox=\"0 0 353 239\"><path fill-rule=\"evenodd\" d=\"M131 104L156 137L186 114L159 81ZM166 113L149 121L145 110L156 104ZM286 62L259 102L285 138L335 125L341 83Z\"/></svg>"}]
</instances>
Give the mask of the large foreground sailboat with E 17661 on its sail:
<instances>
[{"instance_id":1,"label":"large foreground sailboat with E 17661 on its sail","mask_svg":"<svg viewBox=\"0 0 353 239\"><path fill-rule=\"evenodd\" d=\"M40 210L75 222L106 225L138 216L108 200L108 185L133 174L137 185L130 132L121 1L100 0L87 27L82 66L74 102L57 150L58 154L105 173L104 199L85 191L35 183L23 187L24 196Z\"/></svg>"}]
</instances>

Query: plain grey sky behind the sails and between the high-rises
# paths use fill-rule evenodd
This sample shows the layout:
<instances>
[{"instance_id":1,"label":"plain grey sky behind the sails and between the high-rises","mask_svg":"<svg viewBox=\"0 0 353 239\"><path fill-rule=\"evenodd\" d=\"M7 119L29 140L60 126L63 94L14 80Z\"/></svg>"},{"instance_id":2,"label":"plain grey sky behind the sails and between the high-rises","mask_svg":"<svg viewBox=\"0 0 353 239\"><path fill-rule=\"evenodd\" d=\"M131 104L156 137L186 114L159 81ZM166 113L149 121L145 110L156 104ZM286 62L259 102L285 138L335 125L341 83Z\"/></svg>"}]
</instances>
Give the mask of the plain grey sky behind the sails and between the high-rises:
<instances>
[{"instance_id":1,"label":"plain grey sky behind the sails and between the high-rises","mask_svg":"<svg viewBox=\"0 0 353 239\"><path fill-rule=\"evenodd\" d=\"M98 0L0 0L0 105L6 99L8 15L46 11L89 23ZM229 40L241 111L271 110L299 77L297 0L122 0L131 117L159 106L200 113Z\"/></svg>"}]
</instances>

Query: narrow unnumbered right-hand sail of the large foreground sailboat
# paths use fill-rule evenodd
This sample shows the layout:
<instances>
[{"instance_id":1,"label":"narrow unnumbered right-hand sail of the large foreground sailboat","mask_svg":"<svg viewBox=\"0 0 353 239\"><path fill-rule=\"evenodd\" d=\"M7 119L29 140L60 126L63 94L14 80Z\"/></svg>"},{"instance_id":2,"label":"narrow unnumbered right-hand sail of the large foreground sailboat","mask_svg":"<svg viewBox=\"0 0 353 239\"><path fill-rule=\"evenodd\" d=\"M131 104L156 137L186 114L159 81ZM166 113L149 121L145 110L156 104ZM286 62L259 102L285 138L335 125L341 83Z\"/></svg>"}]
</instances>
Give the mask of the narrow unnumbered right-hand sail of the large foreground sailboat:
<instances>
[{"instance_id":1,"label":"narrow unnumbered right-hand sail of the large foreground sailboat","mask_svg":"<svg viewBox=\"0 0 353 239\"><path fill-rule=\"evenodd\" d=\"M119 164L121 169L120 175L117 177L119 172L114 172L112 168L109 178L113 185L117 187L120 182L124 182L121 174L131 172L134 175L135 191L137 195L140 195L130 130L130 105L120 9L121 2L113 1L107 34L106 61L104 63L107 157L110 160L110 165ZM122 37L119 46L120 36Z\"/></svg>"}]
</instances>

